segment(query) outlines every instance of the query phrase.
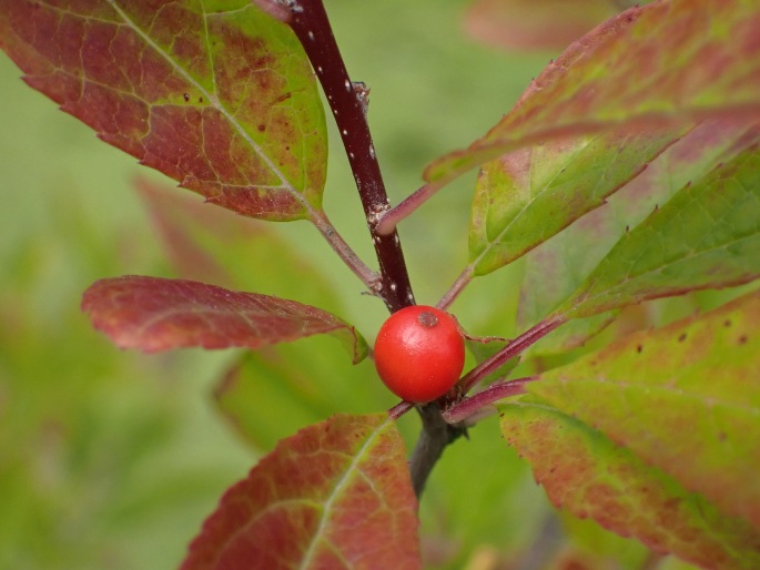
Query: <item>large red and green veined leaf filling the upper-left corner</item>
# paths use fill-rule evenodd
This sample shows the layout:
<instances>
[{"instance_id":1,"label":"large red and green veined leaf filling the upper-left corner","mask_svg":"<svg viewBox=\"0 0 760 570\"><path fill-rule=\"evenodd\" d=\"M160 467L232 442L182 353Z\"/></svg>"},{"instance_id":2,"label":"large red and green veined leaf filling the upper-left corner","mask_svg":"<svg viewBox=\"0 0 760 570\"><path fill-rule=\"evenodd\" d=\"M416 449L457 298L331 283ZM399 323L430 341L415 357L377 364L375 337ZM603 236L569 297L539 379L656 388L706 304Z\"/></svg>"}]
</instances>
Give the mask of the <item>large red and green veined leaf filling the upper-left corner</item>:
<instances>
[{"instance_id":1,"label":"large red and green veined leaf filling the upper-left corner","mask_svg":"<svg viewBox=\"0 0 760 570\"><path fill-rule=\"evenodd\" d=\"M0 0L0 47L103 141L210 202L266 220L321 207L313 74L249 0Z\"/></svg>"}]
</instances>

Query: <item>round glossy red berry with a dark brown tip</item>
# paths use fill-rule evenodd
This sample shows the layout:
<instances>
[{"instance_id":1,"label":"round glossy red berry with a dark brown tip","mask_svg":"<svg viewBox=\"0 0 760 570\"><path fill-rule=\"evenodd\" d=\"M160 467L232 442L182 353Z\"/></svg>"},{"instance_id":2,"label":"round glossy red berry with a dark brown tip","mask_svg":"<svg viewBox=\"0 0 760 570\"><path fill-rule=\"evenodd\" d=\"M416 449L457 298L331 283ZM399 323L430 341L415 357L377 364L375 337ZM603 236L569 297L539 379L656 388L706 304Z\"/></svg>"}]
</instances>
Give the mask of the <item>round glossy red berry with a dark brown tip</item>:
<instances>
[{"instance_id":1,"label":"round glossy red berry with a dark brown tip","mask_svg":"<svg viewBox=\"0 0 760 570\"><path fill-rule=\"evenodd\" d=\"M465 340L459 327L452 315L435 307L403 308L377 333L377 374L406 401L439 398L456 384L464 365Z\"/></svg>"}]
</instances>

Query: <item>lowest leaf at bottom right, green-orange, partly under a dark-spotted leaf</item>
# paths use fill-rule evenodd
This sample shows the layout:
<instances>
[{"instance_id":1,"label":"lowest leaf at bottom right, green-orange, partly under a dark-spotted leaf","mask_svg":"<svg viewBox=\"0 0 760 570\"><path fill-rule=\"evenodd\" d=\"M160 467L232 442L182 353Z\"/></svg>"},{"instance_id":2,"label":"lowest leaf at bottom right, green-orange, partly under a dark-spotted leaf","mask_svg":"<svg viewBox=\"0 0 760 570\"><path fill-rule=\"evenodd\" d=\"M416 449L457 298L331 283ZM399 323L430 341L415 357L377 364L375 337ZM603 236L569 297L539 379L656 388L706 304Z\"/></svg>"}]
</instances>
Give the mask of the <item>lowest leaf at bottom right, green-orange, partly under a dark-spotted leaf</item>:
<instances>
[{"instance_id":1,"label":"lowest leaf at bottom right, green-orange, partly under a dark-spotted leaf","mask_svg":"<svg viewBox=\"0 0 760 570\"><path fill-rule=\"evenodd\" d=\"M500 411L505 438L531 465L555 506L706 569L760 566L756 529L630 450L540 403L524 399Z\"/></svg>"}]
</instances>

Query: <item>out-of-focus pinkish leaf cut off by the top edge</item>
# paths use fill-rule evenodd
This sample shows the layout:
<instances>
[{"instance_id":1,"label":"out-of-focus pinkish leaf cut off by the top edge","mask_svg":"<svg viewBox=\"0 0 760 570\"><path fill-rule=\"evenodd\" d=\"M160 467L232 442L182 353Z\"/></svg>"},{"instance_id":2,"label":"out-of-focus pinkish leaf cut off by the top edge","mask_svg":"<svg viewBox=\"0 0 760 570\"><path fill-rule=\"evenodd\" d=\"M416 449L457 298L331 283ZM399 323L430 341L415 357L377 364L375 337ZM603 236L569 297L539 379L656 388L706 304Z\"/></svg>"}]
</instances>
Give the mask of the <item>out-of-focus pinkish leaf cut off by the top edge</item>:
<instances>
[{"instance_id":1,"label":"out-of-focus pinkish leaf cut off by the top edge","mask_svg":"<svg viewBox=\"0 0 760 570\"><path fill-rule=\"evenodd\" d=\"M475 0L465 26L498 48L559 50L615 11L609 0Z\"/></svg>"}]
</instances>

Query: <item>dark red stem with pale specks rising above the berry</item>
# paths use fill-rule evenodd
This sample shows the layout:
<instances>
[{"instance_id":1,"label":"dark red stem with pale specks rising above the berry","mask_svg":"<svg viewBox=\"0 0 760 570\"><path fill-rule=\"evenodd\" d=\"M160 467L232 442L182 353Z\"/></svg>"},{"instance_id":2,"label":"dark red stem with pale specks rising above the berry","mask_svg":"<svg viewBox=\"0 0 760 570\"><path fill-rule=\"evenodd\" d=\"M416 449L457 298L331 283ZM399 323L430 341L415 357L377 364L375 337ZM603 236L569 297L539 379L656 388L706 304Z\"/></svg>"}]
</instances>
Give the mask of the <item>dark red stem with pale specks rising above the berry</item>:
<instances>
[{"instance_id":1,"label":"dark red stem with pale specks rising above the berry","mask_svg":"<svg viewBox=\"0 0 760 570\"><path fill-rule=\"evenodd\" d=\"M287 24L298 37L322 84L354 173L367 225L379 263L381 283L375 293L391 312L414 305L414 294L398 234L375 231L388 196L366 120L366 106L357 94L341 57L322 0L290 0Z\"/></svg>"}]
</instances>

